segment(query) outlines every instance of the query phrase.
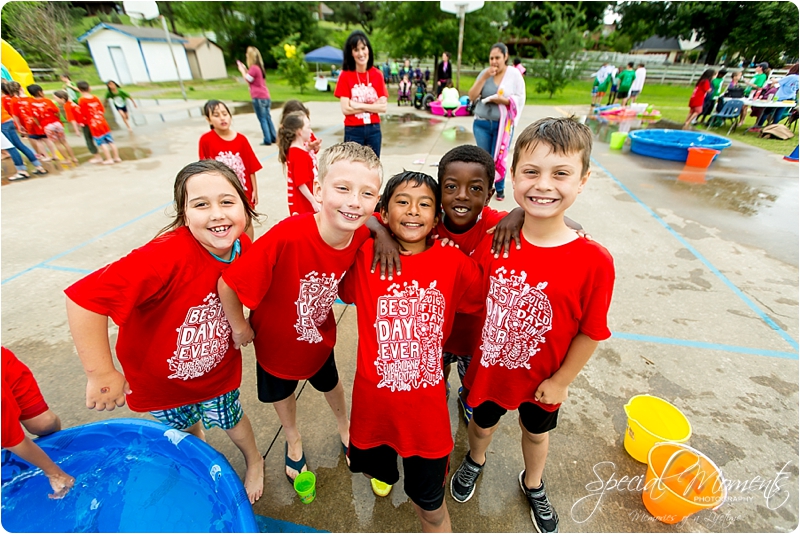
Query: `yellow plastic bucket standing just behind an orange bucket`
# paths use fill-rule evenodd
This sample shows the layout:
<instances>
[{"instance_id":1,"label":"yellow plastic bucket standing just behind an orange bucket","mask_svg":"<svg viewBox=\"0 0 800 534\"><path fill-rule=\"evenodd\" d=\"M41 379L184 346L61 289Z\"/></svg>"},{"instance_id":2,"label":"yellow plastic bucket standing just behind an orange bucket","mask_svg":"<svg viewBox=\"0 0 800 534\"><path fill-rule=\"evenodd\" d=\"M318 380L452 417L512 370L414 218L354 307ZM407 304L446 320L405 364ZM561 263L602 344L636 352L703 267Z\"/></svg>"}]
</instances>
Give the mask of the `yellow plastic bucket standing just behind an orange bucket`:
<instances>
[{"instance_id":1,"label":"yellow plastic bucket standing just behind an orange bucket","mask_svg":"<svg viewBox=\"0 0 800 534\"><path fill-rule=\"evenodd\" d=\"M658 397L636 395L625 405L628 428L625 450L634 460L647 463L647 453L658 442L684 443L692 435L692 425L683 413Z\"/></svg>"}]
</instances>

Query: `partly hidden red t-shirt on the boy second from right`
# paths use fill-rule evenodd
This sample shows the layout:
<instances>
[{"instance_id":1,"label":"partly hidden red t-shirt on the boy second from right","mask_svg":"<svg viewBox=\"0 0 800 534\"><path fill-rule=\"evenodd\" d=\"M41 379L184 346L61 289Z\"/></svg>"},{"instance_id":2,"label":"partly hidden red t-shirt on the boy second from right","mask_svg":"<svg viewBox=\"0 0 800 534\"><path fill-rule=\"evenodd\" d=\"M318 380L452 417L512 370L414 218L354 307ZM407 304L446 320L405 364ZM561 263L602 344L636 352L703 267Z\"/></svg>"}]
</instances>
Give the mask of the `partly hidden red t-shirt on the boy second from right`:
<instances>
[{"instance_id":1,"label":"partly hidden red t-shirt on the boy second from right","mask_svg":"<svg viewBox=\"0 0 800 534\"><path fill-rule=\"evenodd\" d=\"M439 221L433 231L440 239L450 239L458 245L458 248L467 256L472 256L483 240L488 239L492 242L492 236L486 231L497 226L503 217L507 215L504 211L497 211L484 206L483 211L475 221L475 226L463 234L454 234L444 225L444 221ZM444 215L443 215L444 217ZM453 322L453 331L444 344L444 351L459 356L471 356L477 344L480 342L481 328L483 328L483 317L476 314L457 313Z\"/></svg>"}]
</instances>

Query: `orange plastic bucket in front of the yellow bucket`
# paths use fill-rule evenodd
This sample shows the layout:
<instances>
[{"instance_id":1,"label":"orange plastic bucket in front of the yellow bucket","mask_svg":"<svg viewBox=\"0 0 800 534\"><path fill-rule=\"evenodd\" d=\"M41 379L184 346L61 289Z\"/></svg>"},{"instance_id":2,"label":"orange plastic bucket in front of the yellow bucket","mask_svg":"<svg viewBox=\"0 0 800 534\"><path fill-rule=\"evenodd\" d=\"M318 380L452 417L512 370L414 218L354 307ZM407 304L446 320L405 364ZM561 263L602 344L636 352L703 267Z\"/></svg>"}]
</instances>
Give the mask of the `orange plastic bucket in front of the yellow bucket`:
<instances>
[{"instance_id":1,"label":"orange plastic bucket in front of the yellow bucket","mask_svg":"<svg viewBox=\"0 0 800 534\"><path fill-rule=\"evenodd\" d=\"M662 523L675 524L728 496L722 471L703 453L680 443L659 443L647 455L642 501Z\"/></svg>"}]
</instances>

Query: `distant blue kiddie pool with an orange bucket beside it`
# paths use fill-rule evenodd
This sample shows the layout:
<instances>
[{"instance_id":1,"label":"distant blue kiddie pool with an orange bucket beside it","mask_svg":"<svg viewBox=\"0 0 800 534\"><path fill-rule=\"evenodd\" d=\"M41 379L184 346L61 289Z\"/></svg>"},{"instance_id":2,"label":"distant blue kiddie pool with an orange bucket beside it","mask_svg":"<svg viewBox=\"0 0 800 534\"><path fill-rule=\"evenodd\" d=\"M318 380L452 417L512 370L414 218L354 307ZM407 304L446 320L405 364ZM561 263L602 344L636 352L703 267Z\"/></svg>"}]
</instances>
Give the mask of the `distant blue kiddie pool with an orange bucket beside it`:
<instances>
[{"instance_id":1,"label":"distant blue kiddie pool with an orange bucket beside it","mask_svg":"<svg viewBox=\"0 0 800 534\"><path fill-rule=\"evenodd\" d=\"M719 135L684 130L636 130L628 134L631 152L651 158L686 161L689 147L723 150L731 146L729 139Z\"/></svg>"}]
</instances>

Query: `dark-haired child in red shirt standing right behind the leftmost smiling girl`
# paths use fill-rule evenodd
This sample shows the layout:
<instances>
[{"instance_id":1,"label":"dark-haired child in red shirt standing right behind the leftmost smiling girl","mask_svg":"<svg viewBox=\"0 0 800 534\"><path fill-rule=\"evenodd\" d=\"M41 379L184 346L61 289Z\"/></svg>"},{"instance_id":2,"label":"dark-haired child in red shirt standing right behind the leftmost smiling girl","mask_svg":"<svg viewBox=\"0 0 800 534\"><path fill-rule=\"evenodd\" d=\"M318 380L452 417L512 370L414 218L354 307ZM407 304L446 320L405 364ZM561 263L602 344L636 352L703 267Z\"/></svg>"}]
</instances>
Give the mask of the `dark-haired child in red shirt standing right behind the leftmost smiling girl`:
<instances>
[{"instance_id":1,"label":"dark-haired child in red shirt standing right behind the leftmost smiling girl","mask_svg":"<svg viewBox=\"0 0 800 534\"><path fill-rule=\"evenodd\" d=\"M200 137L198 152L200 159L220 161L231 168L239 177L251 208L258 205L258 182L256 173L261 170L250 142L244 135L231 128L233 117L228 106L219 100L209 100L203 106L211 131ZM247 236L252 240L253 225L247 227Z\"/></svg>"}]
</instances>

